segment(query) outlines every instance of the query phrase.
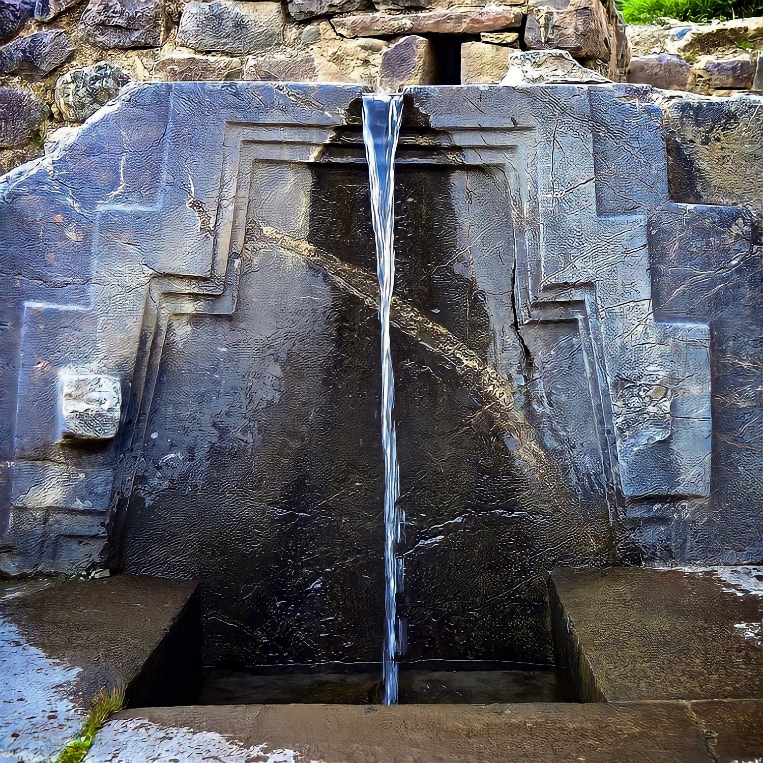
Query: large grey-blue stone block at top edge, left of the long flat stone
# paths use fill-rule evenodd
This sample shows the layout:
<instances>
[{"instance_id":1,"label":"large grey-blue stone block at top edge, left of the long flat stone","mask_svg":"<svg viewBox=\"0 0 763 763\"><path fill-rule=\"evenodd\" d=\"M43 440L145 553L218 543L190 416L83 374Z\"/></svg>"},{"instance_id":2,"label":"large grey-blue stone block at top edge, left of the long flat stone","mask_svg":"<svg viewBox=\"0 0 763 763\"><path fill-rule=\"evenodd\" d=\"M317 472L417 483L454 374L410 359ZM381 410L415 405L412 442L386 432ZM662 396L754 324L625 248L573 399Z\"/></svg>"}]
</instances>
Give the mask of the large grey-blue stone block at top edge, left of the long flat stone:
<instances>
[{"instance_id":1,"label":"large grey-blue stone block at top edge, left of the long flat stone","mask_svg":"<svg viewBox=\"0 0 763 763\"><path fill-rule=\"evenodd\" d=\"M279 2L189 2L180 17L178 41L202 52L241 56L281 43L285 24Z\"/></svg>"}]
</instances>

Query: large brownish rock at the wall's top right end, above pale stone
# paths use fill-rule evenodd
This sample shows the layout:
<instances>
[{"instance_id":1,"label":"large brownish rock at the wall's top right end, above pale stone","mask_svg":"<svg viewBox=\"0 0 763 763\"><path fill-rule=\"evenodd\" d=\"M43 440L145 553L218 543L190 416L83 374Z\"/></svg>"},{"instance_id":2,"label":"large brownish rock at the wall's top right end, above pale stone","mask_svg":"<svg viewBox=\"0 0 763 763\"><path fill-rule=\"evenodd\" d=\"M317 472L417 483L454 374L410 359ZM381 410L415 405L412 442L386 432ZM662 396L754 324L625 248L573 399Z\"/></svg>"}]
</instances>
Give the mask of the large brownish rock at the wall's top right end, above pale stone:
<instances>
[{"instance_id":1,"label":"large brownish rock at the wall's top right end, above pale stone","mask_svg":"<svg viewBox=\"0 0 763 763\"><path fill-rule=\"evenodd\" d=\"M530 50L559 48L575 58L609 61L610 37L600 0L530 0L524 31Z\"/></svg>"}]
</instances>

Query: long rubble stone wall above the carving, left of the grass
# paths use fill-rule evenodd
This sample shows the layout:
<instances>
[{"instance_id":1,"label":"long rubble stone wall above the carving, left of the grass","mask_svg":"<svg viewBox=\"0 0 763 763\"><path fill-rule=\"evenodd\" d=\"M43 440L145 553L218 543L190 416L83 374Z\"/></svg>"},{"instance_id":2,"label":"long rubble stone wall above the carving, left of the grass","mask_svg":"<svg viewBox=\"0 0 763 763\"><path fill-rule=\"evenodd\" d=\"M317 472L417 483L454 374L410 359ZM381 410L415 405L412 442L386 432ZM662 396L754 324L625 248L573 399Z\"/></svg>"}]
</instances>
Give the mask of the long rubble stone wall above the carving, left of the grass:
<instances>
[{"instance_id":1,"label":"long rubble stone wall above the carving, left of the grass","mask_svg":"<svg viewBox=\"0 0 763 763\"><path fill-rule=\"evenodd\" d=\"M0 0L0 173L128 81L498 82L517 48L628 61L612 0Z\"/></svg>"}]
</instances>

